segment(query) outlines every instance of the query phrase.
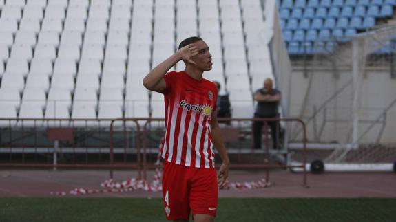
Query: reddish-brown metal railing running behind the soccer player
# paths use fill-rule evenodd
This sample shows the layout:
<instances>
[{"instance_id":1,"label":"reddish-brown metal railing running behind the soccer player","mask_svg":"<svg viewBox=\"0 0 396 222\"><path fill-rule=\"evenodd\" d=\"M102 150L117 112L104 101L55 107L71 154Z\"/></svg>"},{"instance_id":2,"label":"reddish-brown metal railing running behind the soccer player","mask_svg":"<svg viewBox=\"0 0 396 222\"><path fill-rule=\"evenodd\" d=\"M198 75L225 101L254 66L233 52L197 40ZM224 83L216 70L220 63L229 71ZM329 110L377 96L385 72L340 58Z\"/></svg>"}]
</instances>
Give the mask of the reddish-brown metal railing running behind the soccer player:
<instances>
[{"instance_id":1,"label":"reddish-brown metal railing running behind the soccer player","mask_svg":"<svg viewBox=\"0 0 396 222\"><path fill-rule=\"evenodd\" d=\"M30 126L25 127L23 122L30 121ZM143 129L140 127L141 122L145 122ZM237 122L239 127L241 122L251 122L262 121L264 122L264 157L262 163L244 163L235 164L231 162L230 168L240 168L240 169L257 169L262 168L266 170L266 179L269 181L269 170L275 168L302 168L303 170L303 184L307 186L306 181L306 129L305 124L302 120L296 118L279 118L279 119L266 119L266 118L219 118L219 122ZM268 133L268 123L271 121L278 122L299 122L302 125L302 155L303 162L300 165L291 164L270 164L270 152L269 152L269 133ZM7 122L7 124L4 124ZM58 125L54 125L54 122L59 122ZM79 126L76 126L76 123ZM90 122L98 122L98 125L91 124ZM101 122L106 123L106 127L100 127ZM109 124L110 122L110 128ZM117 122L121 122L121 125L115 126ZM127 126L130 123L133 126ZM149 168L158 167L154 165L153 162L147 162L147 148L149 144L149 130L151 130L152 122L164 122L161 118L118 118L118 119L5 119L0 118L0 152L8 153L8 159L0 159L0 166L2 167L28 167L28 168L97 168L97 169L109 169L110 178L113 177L114 170L116 169L136 169L138 172L138 177L145 179L146 173ZM63 123L63 124L62 124ZM39 126L38 126L39 125ZM66 147L61 147L60 153L68 153L72 155L72 160L69 162L59 162L54 164L51 162L52 156L54 154L53 144L47 142L40 144L39 134L43 133L42 129L48 129L49 127L70 127L74 130L74 142L68 144ZM150 127L149 127L150 126ZM117 128L116 130L114 128ZM128 129L134 129L134 147L130 148L127 146L128 142ZM160 126L158 128L163 128ZM154 127L156 128L156 127ZM245 127L246 128L246 127ZM10 131L10 132L8 132ZM80 132L81 131L81 132ZM6 135L7 132L9 135ZM16 133L17 132L17 133ZM32 134L30 141L25 141L26 134ZM13 134L14 133L14 134ZM80 134L79 134L80 133ZM94 135L90 135L90 133ZM17 134L17 135L16 135ZM20 134L20 135L19 135ZM122 134L122 136L120 135ZM102 137L102 136L105 137ZM118 144L123 144L123 148L116 147L115 135L118 135L118 139L121 142ZM45 136L42 136L45 137ZM99 137L99 138L97 138ZM122 139L120 139L122 137ZM87 140L103 140L103 144L100 147L94 146L87 143ZM21 141L19 141L19 139ZM42 138L41 138L42 139ZM75 140L81 140L76 142ZM17 141L17 142L16 142ZM19 142L18 142L19 141ZM106 143L108 142L108 144ZM226 141L227 142L227 141ZM238 144L238 151L247 151L244 153L250 153L251 157L256 157L257 152L251 146L250 148L242 147L247 146ZM143 148L143 151L142 151ZM63 152L67 149L67 152ZM17 151L15 151L17 150ZM107 151L108 150L108 151ZM134 153L136 151L136 153ZM26 156L30 154L30 156ZM33 156L32 156L33 155ZM81 156L85 155L85 156ZM98 158L94 159L94 155ZM107 158L108 155L108 158ZM242 152L237 153L238 159L242 159ZM20 156L20 157L19 157ZM136 160L129 160L128 157L135 157ZM116 160L117 157L118 159ZM19 162L17 159L19 158ZM132 158L133 159L133 158ZM8 160L8 161L7 161ZM218 166L216 166L218 167Z\"/></svg>"}]
</instances>

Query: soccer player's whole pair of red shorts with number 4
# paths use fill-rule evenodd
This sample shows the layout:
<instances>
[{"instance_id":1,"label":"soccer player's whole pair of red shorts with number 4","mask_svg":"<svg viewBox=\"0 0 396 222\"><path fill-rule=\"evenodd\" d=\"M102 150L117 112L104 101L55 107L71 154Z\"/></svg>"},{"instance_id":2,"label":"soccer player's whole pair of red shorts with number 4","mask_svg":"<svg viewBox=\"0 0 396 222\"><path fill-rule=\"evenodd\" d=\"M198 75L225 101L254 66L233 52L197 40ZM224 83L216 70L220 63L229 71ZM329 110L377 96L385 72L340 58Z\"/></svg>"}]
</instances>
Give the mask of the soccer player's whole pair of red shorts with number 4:
<instances>
[{"instance_id":1,"label":"soccer player's whole pair of red shorts with number 4","mask_svg":"<svg viewBox=\"0 0 396 222\"><path fill-rule=\"evenodd\" d=\"M216 217L218 185L214 168L193 168L165 161L163 204L168 220L189 220L192 214Z\"/></svg>"}]
</instances>

